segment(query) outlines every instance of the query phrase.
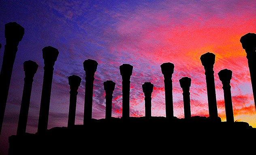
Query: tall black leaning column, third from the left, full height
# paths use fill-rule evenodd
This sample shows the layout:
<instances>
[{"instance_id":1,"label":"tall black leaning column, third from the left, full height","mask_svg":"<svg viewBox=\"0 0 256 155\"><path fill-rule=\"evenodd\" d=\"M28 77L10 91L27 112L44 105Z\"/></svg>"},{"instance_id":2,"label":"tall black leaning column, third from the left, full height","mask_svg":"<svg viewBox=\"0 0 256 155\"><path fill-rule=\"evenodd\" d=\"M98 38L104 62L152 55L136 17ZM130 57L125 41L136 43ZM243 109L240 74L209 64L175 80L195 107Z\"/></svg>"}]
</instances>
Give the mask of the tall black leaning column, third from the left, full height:
<instances>
[{"instance_id":1,"label":"tall black leaning column, third from the left, full height","mask_svg":"<svg viewBox=\"0 0 256 155\"><path fill-rule=\"evenodd\" d=\"M41 95L39 119L38 119L38 133L45 132L48 126L49 107L51 100L51 85L53 79L53 66L57 60L59 51L51 46L43 48L43 59L44 59L44 76L43 76L43 88Z\"/></svg>"}]
</instances>

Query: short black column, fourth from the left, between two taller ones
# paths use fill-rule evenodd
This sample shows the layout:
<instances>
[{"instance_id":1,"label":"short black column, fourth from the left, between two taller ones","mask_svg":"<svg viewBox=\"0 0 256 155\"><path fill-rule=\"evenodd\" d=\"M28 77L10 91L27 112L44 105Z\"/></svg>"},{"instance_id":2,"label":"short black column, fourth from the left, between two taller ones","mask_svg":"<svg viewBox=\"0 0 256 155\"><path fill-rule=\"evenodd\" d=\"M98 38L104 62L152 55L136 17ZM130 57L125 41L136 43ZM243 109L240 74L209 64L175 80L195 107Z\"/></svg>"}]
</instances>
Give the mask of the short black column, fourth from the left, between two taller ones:
<instances>
[{"instance_id":1,"label":"short black column, fourth from the left, between two taller ones","mask_svg":"<svg viewBox=\"0 0 256 155\"><path fill-rule=\"evenodd\" d=\"M68 110L68 127L75 125L76 106L77 106L77 90L81 84L81 77L77 75L68 76L68 85L70 87L69 110Z\"/></svg>"}]
</instances>

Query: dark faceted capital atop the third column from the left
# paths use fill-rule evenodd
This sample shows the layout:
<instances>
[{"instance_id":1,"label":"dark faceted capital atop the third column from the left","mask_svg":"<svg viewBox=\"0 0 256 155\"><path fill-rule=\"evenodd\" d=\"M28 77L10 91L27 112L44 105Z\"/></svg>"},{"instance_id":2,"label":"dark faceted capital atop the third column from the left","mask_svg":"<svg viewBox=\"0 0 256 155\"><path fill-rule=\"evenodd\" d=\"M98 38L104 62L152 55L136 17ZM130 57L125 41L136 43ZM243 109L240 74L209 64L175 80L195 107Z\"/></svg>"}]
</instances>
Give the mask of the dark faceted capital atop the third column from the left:
<instances>
[{"instance_id":1,"label":"dark faceted capital atop the third column from the left","mask_svg":"<svg viewBox=\"0 0 256 155\"><path fill-rule=\"evenodd\" d=\"M53 48L51 46L46 46L42 49L43 51L43 59L45 65L54 66L55 61L59 55L59 51L57 48Z\"/></svg>"}]
</instances>

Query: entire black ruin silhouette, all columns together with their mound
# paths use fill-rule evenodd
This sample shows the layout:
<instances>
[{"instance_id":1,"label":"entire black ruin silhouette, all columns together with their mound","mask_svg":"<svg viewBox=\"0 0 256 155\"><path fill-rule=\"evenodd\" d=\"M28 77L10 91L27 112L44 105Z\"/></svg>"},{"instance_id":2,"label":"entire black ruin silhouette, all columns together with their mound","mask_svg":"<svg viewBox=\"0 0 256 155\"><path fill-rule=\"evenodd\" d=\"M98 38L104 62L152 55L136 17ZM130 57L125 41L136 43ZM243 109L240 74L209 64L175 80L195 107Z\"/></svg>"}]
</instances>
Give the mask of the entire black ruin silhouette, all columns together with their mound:
<instances>
[{"instance_id":1,"label":"entire black ruin silhouette, all columns together with their mound","mask_svg":"<svg viewBox=\"0 0 256 155\"><path fill-rule=\"evenodd\" d=\"M2 128L17 46L19 41L21 41L23 34L24 28L19 24L13 22L5 25L6 45L4 46L4 58L0 74L0 130ZM256 57L256 34L247 33L241 37L240 41L243 49L245 49L245 52L247 53L255 101L256 64L254 60ZM54 70L53 66L57 60L59 52L58 49L51 46L46 46L42 49L42 52L45 66L38 132L35 134L26 132L32 82L34 74L36 74L38 68L36 62L28 60L23 64L25 78L21 109L17 134L9 137L9 155L47 154L49 150L58 154L74 153L76 151L86 153L86 149L91 150L98 148L95 146L95 144L99 143L98 141L104 141L102 148L97 150L98 153L110 153L112 145L127 150L130 146L124 142L130 142L131 139L134 138L139 138L141 143L145 144L145 147L143 148L147 149L149 152L150 148L148 147L151 147L152 140L155 142L171 139L181 143L181 139L183 141L189 141L193 138L194 140L197 140L207 136L209 141L213 142L213 139L215 139L218 134L218 136L226 137L226 141L228 141L228 136L232 136L233 132L236 132L237 134L241 133L245 140L247 140L247 136L250 136L251 138L256 137L256 130L254 130L252 126L249 126L248 123L234 121L230 86L232 71L228 69L223 69L218 72L219 79L223 84L226 122L222 122L220 117L218 117L213 70L215 54L209 52L200 57L202 65L205 68L209 118L191 116L190 86L193 79L190 77L182 77L179 80L180 87L183 91L184 119L178 119L173 115L172 74L174 72L174 64L165 62L160 65L160 68L164 76L166 117L151 116L151 94L153 93L154 84L150 82L145 82L142 85L143 93L145 95L145 117L130 117L130 77L132 76L133 66L130 64L122 64L119 66L120 75L122 76L122 118L113 118L111 115L115 82L109 80L103 83L106 94L105 118L100 120L92 119L94 74L97 70L98 62L96 60L88 59L83 62L83 68L86 75L83 125L75 125L77 90L81 84L81 77L70 75L67 79L70 86L68 126L47 129ZM175 134L179 134L180 137L177 138ZM116 137L119 137L118 141L116 141ZM149 137L151 137L151 139L149 139ZM197 142L199 142L199 140ZM153 147L159 145L157 143L154 144ZM213 145L207 145L207 147L213 147Z\"/></svg>"}]
</instances>

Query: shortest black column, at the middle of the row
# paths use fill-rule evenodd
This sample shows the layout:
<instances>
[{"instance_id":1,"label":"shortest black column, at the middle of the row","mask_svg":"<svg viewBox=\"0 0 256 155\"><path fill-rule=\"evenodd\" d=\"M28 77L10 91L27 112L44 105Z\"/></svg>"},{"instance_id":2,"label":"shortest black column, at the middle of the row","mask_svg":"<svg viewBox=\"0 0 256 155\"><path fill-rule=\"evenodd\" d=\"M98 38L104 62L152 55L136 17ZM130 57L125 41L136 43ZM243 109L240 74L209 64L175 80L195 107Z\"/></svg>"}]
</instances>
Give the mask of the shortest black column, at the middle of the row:
<instances>
[{"instance_id":1,"label":"shortest black column, at the middle of the row","mask_svg":"<svg viewBox=\"0 0 256 155\"><path fill-rule=\"evenodd\" d=\"M145 117L151 117L151 94L153 92L154 85L150 82L145 82L142 85L142 90L145 95Z\"/></svg>"}]
</instances>

